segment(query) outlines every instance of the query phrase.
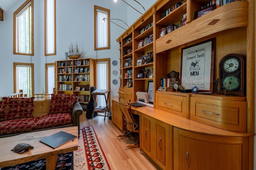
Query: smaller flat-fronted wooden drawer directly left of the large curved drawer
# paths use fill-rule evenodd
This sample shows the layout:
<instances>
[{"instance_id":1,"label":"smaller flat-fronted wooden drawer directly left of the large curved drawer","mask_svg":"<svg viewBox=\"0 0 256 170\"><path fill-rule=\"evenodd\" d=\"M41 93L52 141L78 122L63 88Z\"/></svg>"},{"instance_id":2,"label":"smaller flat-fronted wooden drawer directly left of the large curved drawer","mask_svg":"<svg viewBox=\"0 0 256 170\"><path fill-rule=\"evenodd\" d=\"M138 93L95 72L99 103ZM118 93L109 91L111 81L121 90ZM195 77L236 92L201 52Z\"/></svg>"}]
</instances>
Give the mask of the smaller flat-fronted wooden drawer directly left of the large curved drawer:
<instances>
[{"instance_id":1,"label":"smaller flat-fronted wooden drawer directly left of the large curved drawer","mask_svg":"<svg viewBox=\"0 0 256 170\"><path fill-rule=\"evenodd\" d=\"M156 108L186 117L186 97L156 93Z\"/></svg>"}]
</instances>

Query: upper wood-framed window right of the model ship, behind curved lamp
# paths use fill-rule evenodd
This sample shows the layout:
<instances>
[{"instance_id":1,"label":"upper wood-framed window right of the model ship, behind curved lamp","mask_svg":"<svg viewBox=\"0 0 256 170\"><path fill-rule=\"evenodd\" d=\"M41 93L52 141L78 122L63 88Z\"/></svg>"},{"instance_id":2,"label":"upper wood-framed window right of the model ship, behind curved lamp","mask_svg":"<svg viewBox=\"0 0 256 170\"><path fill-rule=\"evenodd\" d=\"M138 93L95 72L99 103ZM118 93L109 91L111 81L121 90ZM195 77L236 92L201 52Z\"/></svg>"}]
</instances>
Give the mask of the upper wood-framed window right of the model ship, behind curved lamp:
<instances>
[{"instance_id":1,"label":"upper wood-framed window right of the model ship, behind curved lamp","mask_svg":"<svg viewBox=\"0 0 256 170\"><path fill-rule=\"evenodd\" d=\"M94 50L110 49L110 10L94 6Z\"/></svg>"}]
</instances>

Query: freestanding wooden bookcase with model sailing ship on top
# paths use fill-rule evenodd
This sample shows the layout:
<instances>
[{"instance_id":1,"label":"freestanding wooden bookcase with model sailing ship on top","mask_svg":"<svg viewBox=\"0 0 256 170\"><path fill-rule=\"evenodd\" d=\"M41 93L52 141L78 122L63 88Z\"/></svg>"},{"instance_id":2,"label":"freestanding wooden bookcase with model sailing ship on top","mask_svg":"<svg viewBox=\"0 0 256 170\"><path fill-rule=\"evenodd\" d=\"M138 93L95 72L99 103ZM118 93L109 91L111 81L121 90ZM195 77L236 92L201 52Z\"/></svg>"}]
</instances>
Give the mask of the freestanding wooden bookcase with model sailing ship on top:
<instances>
[{"instance_id":1,"label":"freestanding wooden bookcase with model sailing ship on top","mask_svg":"<svg viewBox=\"0 0 256 170\"><path fill-rule=\"evenodd\" d=\"M56 61L57 94L74 94L78 102L87 104L90 87L94 86L94 59Z\"/></svg>"}]
</instances>

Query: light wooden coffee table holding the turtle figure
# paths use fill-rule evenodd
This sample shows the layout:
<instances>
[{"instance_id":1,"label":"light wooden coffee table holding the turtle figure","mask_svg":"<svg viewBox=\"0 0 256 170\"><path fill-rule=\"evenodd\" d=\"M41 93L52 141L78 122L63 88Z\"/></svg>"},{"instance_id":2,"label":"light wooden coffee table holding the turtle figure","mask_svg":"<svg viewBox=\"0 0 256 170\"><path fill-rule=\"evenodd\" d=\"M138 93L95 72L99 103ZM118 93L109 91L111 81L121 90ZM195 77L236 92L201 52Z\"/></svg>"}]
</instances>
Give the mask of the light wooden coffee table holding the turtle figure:
<instances>
[{"instance_id":1,"label":"light wooden coffee table holding the turtle figure","mask_svg":"<svg viewBox=\"0 0 256 170\"><path fill-rule=\"evenodd\" d=\"M74 141L69 141L64 145L57 147L56 149L52 149L48 145L45 145L39 141L41 138L52 135L59 131L71 133L76 135L77 138L74 139ZM33 146L34 149L25 151L22 154L11 151L11 149L13 149L19 143L28 143ZM64 127L0 138L0 146L0 167L12 166L32 160L46 158L46 170L54 170L58 154L72 152L78 149L78 127Z\"/></svg>"}]
</instances>

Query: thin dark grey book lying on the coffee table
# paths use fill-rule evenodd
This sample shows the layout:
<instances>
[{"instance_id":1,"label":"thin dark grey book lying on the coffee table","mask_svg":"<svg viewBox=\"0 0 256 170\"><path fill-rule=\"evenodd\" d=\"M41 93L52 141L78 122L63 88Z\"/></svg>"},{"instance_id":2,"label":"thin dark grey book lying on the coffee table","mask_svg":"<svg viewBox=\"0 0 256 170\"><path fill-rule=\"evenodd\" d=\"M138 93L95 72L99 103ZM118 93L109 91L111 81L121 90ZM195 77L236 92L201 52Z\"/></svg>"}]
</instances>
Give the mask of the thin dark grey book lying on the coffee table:
<instances>
[{"instance_id":1,"label":"thin dark grey book lying on the coffee table","mask_svg":"<svg viewBox=\"0 0 256 170\"><path fill-rule=\"evenodd\" d=\"M70 133L60 131L58 133L54 133L48 137L44 137L40 139L39 141L48 145L49 147L52 147L53 149L59 147L60 145L63 145L73 139L77 138L77 136L72 135Z\"/></svg>"}]
</instances>

